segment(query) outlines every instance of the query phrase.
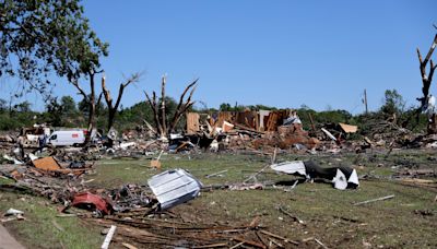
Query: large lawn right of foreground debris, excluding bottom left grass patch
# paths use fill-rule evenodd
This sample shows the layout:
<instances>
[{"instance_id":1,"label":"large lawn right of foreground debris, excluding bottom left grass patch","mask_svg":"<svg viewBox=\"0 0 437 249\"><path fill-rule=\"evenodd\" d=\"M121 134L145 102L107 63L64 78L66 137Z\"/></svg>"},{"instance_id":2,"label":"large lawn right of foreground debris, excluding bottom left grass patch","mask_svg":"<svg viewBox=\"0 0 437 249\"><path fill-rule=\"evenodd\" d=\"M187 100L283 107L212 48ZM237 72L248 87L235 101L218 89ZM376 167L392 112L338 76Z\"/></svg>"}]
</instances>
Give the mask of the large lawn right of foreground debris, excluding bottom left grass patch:
<instances>
[{"instance_id":1,"label":"large lawn right of foreground debris, excluding bottom left grass patch","mask_svg":"<svg viewBox=\"0 0 437 249\"><path fill-rule=\"evenodd\" d=\"M356 154L346 155L279 155L277 161L315 159L322 166L350 165L357 167L358 174L371 171L385 180L362 181L357 190L340 191L330 183L300 183L292 191L281 189L202 192L193 201L174 208L174 212L193 221L216 224L249 224L260 216L269 230L292 239L316 237L330 248L363 247L363 241L373 247L437 247L434 229L436 215L422 216L415 210L429 210L437 214L433 201L435 189L402 186L387 180L395 169L395 159L406 158L417 165L429 167L428 155L415 152L395 152L388 156L368 156L357 159ZM375 157L375 158L373 158ZM264 167L270 158L249 155L165 155L163 170L184 168L204 185L241 182ZM381 166L380 164L383 163ZM426 164L426 165L424 165ZM157 174L149 167L150 161L103 161L97 166L93 185L117 187L127 182L146 183L149 177ZM361 165L358 167L358 165ZM379 166L378 166L379 165ZM206 178L206 175L227 169L223 177ZM293 176L277 175L270 168L257 177L264 180L292 180ZM395 194L394 199L354 206L353 203ZM294 222L277 210L281 205L305 222ZM194 215L196 214L196 215ZM352 221L352 222L351 222ZM308 247L317 247L308 242Z\"/></svg>"}]
</instances>

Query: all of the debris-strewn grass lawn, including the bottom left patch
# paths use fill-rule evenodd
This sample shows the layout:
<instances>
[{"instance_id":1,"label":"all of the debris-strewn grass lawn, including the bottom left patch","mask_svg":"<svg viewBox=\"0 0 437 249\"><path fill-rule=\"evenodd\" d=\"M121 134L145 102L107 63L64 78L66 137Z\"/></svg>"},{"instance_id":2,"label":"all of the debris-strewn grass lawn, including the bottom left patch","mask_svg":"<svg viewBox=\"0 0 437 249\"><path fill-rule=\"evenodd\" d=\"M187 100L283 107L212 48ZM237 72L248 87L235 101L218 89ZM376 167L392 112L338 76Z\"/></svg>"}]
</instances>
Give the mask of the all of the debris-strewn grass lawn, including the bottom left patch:
<instances>
[{"instance_id":1,"label":"all of the debris-strewn grass lawn, including the bottom left patch","mask_svg":"<svg viewBox=\"0 0 437 249\"><path fill-rule=\"evenodd\" d=\"M380 176L362 180L357 190L335 190L330 183L299 183L293 190L268 188L264 190L202 192L189 203L173 209L181 217L203 224L248 224L255 217L277 235L294 240L315 237L329 248L363 248L365 245L383 248L436 248L437 189L405 186L390 179L402 168L435 168L433 152L399 151L390 155L279 155L277 161L314 159L322 166L349 165L358 175ZM240 154L163 155L162 170L184 168L203 185L243 182L270 162L270 157ZM208 175L226 170L221 176ZM103 159L96 164L94 187L119 188L125 183L146 185L158 174L149 159ZM281 175L268 168L259 181L291 182L293 176ZM10 222L8 228L29 248L96 248L104 239L99 228L85 225L79 218L56 217L55 205L28 195L0 193L1 211L9 208L23 210L29 221ZM354 206L353 203L395 194L393 199ZM281 212L282 206L304 224ZM425 214L425 215L424 215ZM427 214L427 215L426 215ZM63 228L52 225L56 221ZM38 233L35 233L35 232ZM84 239L85 238L85 239ZM31 247L32 246L32 247ZM118 245L119 246L119 245ZM310 240L299 247L316 248Z\"/></svg>"}]
</instances>

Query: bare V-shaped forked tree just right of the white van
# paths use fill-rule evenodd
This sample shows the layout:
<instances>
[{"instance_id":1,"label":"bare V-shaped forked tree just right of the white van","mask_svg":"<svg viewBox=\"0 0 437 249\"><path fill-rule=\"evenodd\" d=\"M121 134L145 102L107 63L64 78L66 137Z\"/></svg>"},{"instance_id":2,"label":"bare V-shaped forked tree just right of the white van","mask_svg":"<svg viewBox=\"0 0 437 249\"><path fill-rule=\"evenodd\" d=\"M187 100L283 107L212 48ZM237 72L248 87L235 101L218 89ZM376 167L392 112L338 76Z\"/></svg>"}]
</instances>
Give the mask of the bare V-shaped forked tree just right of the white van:
<instances>
[{"instance_id":1,"label":"bare V-shaped forked tree just right of the white van","mask_svg":"<svg viewBox=\"0 0 437 249\"><path fill-rule=\"evenodd\" d=\"M110 96L110 91L106 87L106 78L105 75L102 76L102 91L103 95L105 96L106 105L108 106L108 131L114 126L114 121L121 102L121 97L125 93L125 88L128 87L131 83L139 82L141 75L142 73L133 73L130 78L126 80L125 83L120 83L117 100L115 103L113 102L113 97Z\"/></svg>"}]
</instances>

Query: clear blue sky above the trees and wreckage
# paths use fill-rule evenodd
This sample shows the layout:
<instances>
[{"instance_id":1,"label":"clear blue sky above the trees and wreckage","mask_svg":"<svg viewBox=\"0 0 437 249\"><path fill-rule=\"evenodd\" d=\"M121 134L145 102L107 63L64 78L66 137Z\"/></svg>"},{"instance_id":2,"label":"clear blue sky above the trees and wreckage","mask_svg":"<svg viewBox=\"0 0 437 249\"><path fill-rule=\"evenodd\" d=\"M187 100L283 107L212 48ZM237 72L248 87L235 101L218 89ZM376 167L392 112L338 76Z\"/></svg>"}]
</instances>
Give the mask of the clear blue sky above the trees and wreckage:
<instances>
[{"instance_id":1,"label":"clear blue sky above the trees and wreckage","mask_svg":"<svg viewBox=\"0 0 437 249\"><path fill-rule=\"evenodd\" d=\"M236 102L283 108L305 104L357 114L364 111L365 88L371 110L391 88L415 105L422 94L415 48L427 52L437 32L435 0L83 4L92 28L109 43L103 68L113 92L123 75L145 72L126 91L125 107L144 100L143 90L157 90L164 73L167 94L176 98L199 78L194 99L208 107ZM0 97L9 99L14 86L7 83L0 82ZM61 80L58 84L58 95L80 99L73 86ZM44 106L36 94L26 98L36 108Z\"/></svg>"}]
</instances>

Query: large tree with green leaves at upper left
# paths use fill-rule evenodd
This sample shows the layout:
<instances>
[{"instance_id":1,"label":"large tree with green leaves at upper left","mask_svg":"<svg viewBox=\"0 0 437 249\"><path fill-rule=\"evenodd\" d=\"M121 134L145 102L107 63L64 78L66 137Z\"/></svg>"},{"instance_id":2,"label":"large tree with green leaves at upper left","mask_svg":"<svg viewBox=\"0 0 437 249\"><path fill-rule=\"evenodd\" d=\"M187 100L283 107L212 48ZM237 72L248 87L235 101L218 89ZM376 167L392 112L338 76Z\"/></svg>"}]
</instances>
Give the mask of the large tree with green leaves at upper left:
<instances>
[{"instance_id":1,"label":"large tree with green leaves at upper left","mask_svg":"<svg viewBox=\"0 0 437 249\"><path fill-rule=\"evenodd\" d=\"M93 129L94 79L108 44L91 31L80 0L3 0L0 10L0 76L17 76L42 93L52 86L51 72L67 78L90 105L88 130ZM88 80L90 93L80 79Z\"/></svg>"}]
</instances>

